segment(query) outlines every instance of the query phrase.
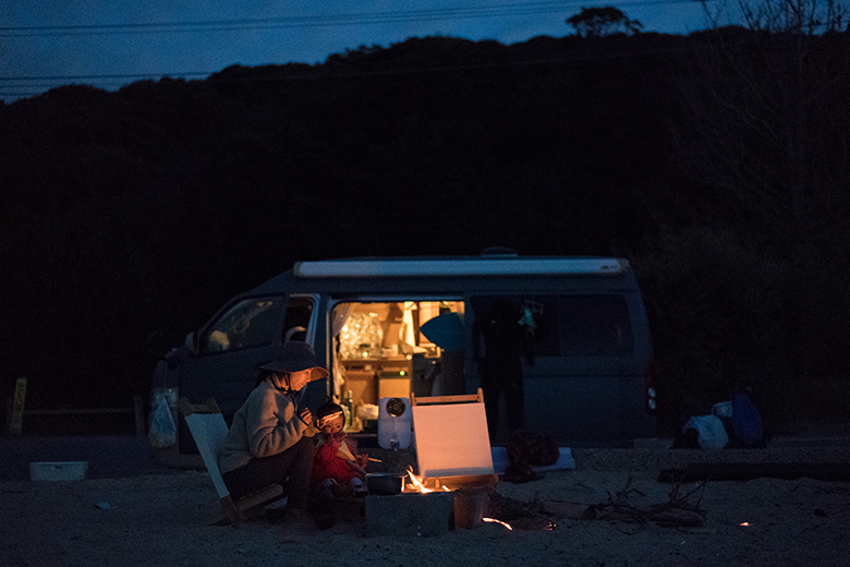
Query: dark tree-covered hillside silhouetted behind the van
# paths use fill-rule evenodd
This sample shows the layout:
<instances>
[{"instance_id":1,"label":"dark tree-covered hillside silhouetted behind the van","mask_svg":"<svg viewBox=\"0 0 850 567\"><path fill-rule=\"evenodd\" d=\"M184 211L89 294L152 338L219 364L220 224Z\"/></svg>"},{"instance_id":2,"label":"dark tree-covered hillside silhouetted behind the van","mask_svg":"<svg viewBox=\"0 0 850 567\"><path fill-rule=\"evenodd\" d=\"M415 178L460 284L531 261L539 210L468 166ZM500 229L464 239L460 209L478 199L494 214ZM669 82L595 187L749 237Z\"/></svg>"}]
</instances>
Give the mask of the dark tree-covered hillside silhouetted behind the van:
<instances>
[{"instance_id":1,"label":"dark tree-covered hillside silhouetted behind the van","mask_svg":"<svg viewBox=\"0 0 850 567\"><path fill-rule=\"evenodd\" d=\"M666 426L744 385L846 418L848 46L430 37L0 106L2 395L126 405L151 331L295 261L500 244L632 261Z\"/></svg>"}]
</instances>

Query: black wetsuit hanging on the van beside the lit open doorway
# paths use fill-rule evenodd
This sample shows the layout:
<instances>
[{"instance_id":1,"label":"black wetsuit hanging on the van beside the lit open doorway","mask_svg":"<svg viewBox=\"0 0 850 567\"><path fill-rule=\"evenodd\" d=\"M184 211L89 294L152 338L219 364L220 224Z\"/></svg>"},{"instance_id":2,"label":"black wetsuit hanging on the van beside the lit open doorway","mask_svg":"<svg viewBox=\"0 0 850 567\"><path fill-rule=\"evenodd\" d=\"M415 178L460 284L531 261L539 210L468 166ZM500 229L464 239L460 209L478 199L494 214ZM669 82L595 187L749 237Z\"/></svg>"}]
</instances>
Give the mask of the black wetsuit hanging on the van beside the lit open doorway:
<instances>
[{"instance_id":1,"label":"black wetsuit hanging on the van beside the lit open doorway","mask_svg":"<svg viewBox=\"0 0 850 567\"><path fill-rule=\"evenodd\" d=\"M534 362L531 337L521 324L523 312L506 299L494 301L475 316L473 349L481 373L487 430L494 439L499 431L499 406L503 397L508 434L523 427L525 398L522 358Z\"/></svg>"}]
</instances>

